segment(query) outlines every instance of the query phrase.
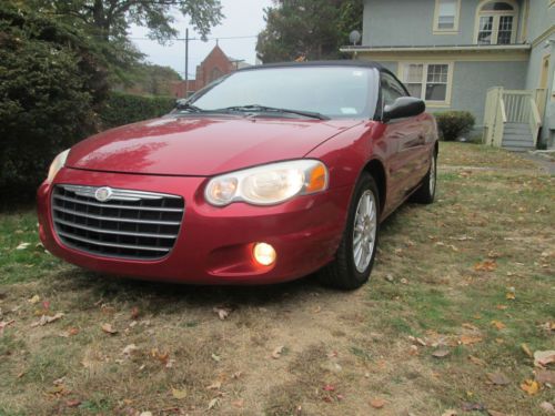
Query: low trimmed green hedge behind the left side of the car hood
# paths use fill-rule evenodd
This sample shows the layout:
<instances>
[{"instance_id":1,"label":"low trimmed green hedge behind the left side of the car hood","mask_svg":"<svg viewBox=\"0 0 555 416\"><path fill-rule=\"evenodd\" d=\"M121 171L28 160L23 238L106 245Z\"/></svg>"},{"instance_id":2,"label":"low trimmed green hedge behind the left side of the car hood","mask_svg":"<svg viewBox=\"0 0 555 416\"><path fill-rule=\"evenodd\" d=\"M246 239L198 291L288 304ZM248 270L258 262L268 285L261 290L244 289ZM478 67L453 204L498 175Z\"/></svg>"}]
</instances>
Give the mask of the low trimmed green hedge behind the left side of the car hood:
<instances>
[{"instance_id":1,"label":"low trimmed green hedge behind the left side of the car hood","mask_svg":"<svg viewBox=\"0 0 555 416\"><path fill-rule=\"evenodd\" d=\"M103 129L154 119L168 114L175 105L171 97L143 97L111 92L101 110Z\"/></svg>"}]
</instances>

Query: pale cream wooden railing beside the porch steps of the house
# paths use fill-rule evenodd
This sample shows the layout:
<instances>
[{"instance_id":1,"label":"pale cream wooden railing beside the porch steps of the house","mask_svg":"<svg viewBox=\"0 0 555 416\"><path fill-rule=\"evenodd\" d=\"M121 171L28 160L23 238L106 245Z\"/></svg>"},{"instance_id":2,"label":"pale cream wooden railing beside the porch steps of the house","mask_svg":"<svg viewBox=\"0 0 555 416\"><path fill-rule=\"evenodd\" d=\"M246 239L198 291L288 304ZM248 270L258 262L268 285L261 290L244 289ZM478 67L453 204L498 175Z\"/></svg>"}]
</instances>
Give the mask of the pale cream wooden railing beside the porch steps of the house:
<instances>
[{"instance_id":1,"label":"pale cream wooden railing beside the porch steps of the house","mask_svg":"<svg viewBox=\"0 0 555 416\"><path fill-rule=\"evenodd\" d=\"M541 90L505 90L494 87L487 90L484 114L484 143L501 148L505 124L528 124L534 146L537 144L537 133L542 125L538 110Z\"/></svg>"}]
</instances>

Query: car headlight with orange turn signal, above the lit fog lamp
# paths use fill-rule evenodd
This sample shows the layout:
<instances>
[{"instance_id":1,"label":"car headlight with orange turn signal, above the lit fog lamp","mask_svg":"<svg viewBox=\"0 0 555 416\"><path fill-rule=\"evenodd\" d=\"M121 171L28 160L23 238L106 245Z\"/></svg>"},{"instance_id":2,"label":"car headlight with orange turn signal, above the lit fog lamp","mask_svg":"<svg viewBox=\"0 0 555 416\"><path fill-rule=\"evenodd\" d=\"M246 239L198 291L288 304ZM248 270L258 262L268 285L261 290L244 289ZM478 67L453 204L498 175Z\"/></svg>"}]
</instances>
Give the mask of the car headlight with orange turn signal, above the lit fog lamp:
<instances>
[{"instance_id":1,"label":"car headlight with orange turn signal, above the lit fog lamp","mask_svg":"<svg viewBox=\"0 0 555 416\"><path fill-rule=\"evenodd\" d=\"M208 183L204 196L216 206L239 201L273 205L295 195L325 191L327 182L327 169L322 162L280 162L216 176Z\"/></svg>"}]
</instances>

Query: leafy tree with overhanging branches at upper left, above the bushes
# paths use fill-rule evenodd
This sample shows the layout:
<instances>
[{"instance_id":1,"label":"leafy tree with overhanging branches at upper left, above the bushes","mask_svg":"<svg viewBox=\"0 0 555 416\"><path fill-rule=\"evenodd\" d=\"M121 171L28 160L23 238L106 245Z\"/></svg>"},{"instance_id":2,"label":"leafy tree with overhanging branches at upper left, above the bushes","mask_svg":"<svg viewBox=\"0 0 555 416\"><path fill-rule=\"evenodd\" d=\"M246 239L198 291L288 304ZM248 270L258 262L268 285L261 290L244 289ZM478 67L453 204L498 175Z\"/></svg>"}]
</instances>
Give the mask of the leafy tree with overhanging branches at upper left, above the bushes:
<instances>
[{"instance_id":1,"label":"leafy tree with overhanging branches at upper left, above the bushes","mask_svg":"<svg viewBox=\"0 0 555 416\"><path fill-rule=\"evenodd\" d=\"M4 0L6 1L6 0ZM52 17L79 28L97 43L109 64L112 83L130 84L144 55L128 37L131 24L149 28L149 37L163 43L179 31L174 13L189 17L205 38L223 18L220 0L9 0L21 9Z\"/></svg>"}]
</instances>

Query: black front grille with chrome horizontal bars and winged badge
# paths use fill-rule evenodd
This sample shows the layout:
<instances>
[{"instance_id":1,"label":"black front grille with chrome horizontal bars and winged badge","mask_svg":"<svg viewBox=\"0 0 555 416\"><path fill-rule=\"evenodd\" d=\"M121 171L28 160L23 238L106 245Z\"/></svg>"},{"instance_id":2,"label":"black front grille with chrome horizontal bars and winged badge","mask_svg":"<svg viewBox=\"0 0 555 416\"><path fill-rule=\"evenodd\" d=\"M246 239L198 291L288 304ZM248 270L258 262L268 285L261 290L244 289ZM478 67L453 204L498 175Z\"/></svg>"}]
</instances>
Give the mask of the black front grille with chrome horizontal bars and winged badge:
<instances>
[{"instance_id":1,"label":"black front grille with chrome horizontal bars and winged badge","mask_svg":"<svg viewBox=\"0 0 555 416\"><path fill-rule=\"evenodd\" d=\"M107 257L165 256L183 212L181 196L162 193L78 185L56 185L52 192L52 220L62 243Z\"/></svg>"}]
</instances>

